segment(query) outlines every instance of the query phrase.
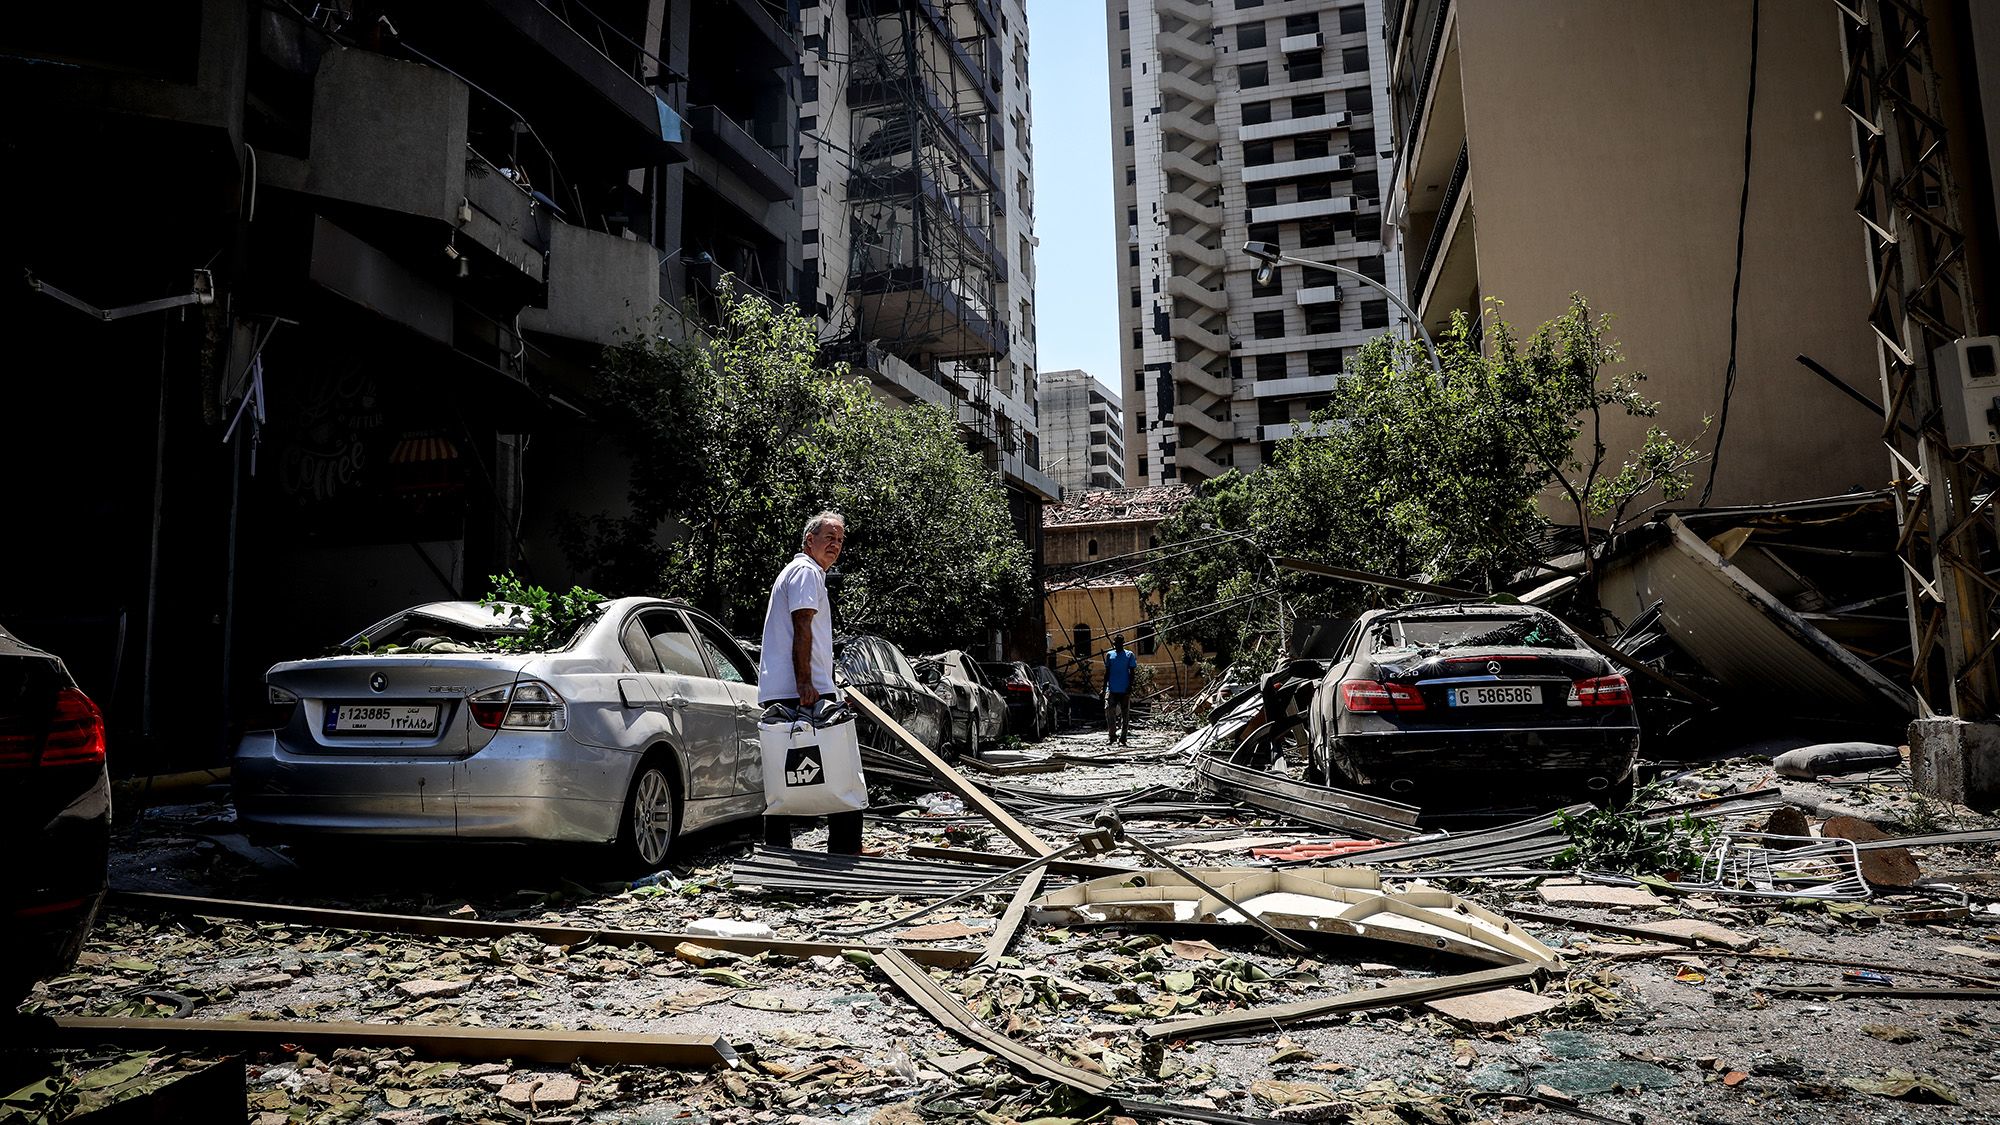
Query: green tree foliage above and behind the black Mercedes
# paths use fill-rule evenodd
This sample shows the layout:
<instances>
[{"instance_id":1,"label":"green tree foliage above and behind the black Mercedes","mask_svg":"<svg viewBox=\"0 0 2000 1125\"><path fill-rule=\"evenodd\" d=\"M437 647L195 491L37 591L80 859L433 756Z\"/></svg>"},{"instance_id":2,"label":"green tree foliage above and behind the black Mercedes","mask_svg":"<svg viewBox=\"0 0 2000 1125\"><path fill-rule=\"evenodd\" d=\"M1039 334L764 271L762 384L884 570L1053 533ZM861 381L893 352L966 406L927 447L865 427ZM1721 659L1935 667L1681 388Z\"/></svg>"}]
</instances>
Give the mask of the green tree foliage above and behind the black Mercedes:
<instances>
[{"instance_id":1,"label":"green tree foliage above and behind the black Mercedes","mask_svg":"<svg viewBox=\"0 0 2000 1125\"><path fill-rule=\"evenodd\" d=\"M1582 526L1586 544L1614 530L1646 496L1684 496L1702 460L1662 428L1612 464L1606 410L1654 416L1606 336L1608 318L1572 296L1562 316L1526 342L1488 314L1486 348L1466 316L1438 340L1444 378L1420 344L1376 336L1348 364L1314 424L1278 442L1252 476L1202 486L1160 524L1146 583L1162 637L1212 649L1218 665L1282 643L1270 615L1194 621L1214 605L1276 583L1288 617L1338 617L1396 605L1384 587L1276 575L1264 556L1296 556L1436 585L1498 589L1536 558L1550 514ZM1246 530L1208 552L1184 552L1212 534ZM1596 524L1596 526L1592 526ZM1590 567L1590 562L1586 562Z\"/></svg>"}]
</instances>

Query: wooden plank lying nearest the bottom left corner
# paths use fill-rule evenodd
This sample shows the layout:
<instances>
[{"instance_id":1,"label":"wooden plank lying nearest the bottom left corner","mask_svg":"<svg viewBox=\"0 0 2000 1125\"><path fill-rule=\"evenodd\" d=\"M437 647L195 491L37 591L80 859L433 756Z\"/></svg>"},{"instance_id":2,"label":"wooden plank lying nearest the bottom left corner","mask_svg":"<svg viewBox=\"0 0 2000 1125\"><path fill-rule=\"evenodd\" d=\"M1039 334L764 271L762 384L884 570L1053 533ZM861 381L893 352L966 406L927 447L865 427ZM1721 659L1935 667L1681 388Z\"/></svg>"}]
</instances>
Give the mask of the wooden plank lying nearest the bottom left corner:
<instances>
[{"instance_id":1,"label":"wooden plank lying nearest the bottom left corner","mask_svg":"<svg viewBox=\"0 0 2000 1125\"><path fill-rule=\"evenodd\" d=\"M598 1063L636 1067L734 1067L736 1051L720 1035L640 1035L630 1031L548 1031L524 1027L440 1027L418 1023L308 1023L292 1019L106 1019L56 1017L4 1025L4 1035L36 1047L54 1043L168 1049L268 1049L296 1043L340 1047L410 1047L432 1059Z\"/></svg>"}]
</instances>

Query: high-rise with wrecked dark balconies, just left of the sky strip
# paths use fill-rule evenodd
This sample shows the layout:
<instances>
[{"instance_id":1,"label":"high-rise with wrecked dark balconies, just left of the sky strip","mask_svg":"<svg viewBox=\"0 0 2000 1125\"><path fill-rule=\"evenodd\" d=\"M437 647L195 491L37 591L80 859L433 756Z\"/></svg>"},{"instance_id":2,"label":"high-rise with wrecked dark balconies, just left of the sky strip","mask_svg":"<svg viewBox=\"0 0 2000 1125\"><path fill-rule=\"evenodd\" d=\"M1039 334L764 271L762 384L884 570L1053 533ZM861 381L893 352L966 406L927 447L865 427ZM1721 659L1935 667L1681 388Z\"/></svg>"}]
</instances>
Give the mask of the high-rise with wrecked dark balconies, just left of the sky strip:
<instances>
[{"instance_id":1,"label":"high-rise with wrecked dark balconies, just left of the sky strip","mask_svg":"<svg viewBox=\"0 0 2000 1125\"><path fill-rule=\"evenodd\" d=\"M800 302L878 394L958 416L1028 538L1034 108L1024 0L806 0Z\"/></svg>"}]
</instances>

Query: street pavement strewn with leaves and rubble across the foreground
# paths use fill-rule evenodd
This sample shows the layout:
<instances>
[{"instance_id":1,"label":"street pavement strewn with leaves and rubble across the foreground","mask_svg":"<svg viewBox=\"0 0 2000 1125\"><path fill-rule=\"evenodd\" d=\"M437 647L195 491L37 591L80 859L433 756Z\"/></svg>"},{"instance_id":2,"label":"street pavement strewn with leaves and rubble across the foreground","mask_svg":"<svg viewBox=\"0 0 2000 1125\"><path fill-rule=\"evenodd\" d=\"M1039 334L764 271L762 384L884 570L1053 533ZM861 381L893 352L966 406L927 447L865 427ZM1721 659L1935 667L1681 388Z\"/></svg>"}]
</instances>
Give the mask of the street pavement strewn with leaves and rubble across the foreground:
<instances>
[{"instance_id":1,"label":"street pavement strewn with leaves and rubble across the foreground","mask_svg":"<svg viewBox=\"0 0 2000 1125\"><path fill-rule=\"evenodd\" d=\"M1188 785L1162 761L1178 731L1148 727L1130 755L1060 773L990 779L998 789L1126 795ZM1028 753L1106 755L1102 733L1048 739ZM1768 763L1702 767L1694 793L1766 785ZM1844 805L1902 835L1914 827L1974 827L1908 797L1902 787L1828 789L1786 783L1810 807ZM956 799L878 791L868 847L900 855L950 841L1016 851L966 817ZM1826 809L1838 811L1838 809ZM1944 817L1946 823L1934 825ZM1752 825L1758 825L1756 817ZM1978 827L1988 823L1980 821ZM1250 863L1248 847L1326 839L1256 813L1140 823L1148 839L1178 839L1184 863ZM770 925L814 939L916 911L920 901L826 895L778 899L728 883L752 825L684 841L672 877L632 887L594 857L522 847L370 849L298 869L232 839L226 805L154 809L120 837L112 883L362 911L560 921L600 929L682 931L700 919ZM1050 833L1052 843L1068 843ZM220 843L218 843L220 841ZM800 837L824 847L824 833ZM1030 923L994 969L936 971L986 1027L1062 1063L1110 1075L1156 1101L1192 1101L1246 1117L1502 1121L1560 1113L1572 1099L1612 1121L1988 1121L2000 1117L2000 995L1992 999L1788 997L1788 985L1840 985L1844 967L1890 965L1896 987L1954 987L1944 977L2000 975L1994 845L1916 853L1930 879L1958 887L1968 917L1932 925L1884 921L1890 909L1774 905L1666 897L1652 907L1546 905L1530 881L1468 881L1448 889L1488 909L1524 905L1576 919L1648 923L1704 919L1742 935L1746 953L1648 951L1604 933L1534 925L1564 951L1566 975L1540 985L1556 1001L1508 1027L1478 1027L1430 1009L1382 1009L1324 1023L1270 1027L1226 1039L1168 1043L1148 1057L1132 1027L1162 1015L1286 1003L1476 965L1398 947L1324 939L1292 957L1248 927L1202 933L1056 929ZM1058 885L1052 881L1052 885ZM1956 899L1938 899L1956 901ZM1932 905L1936 905L1934 901ZM958 923L978 949L1004 909L994 895L918 919ZM1892 903L1894 905L1894 903ZM900 929L900 927L898 927ZM890 935L898 933L892 929ZM930 935L952 933L924 931ZM882 935L870 941L882 941ZM1946 947L1966 953L1950 953ZM1640 957L1628 957L1638 953ZM1820 957L1832 965L1802 963ZM862 959L696 955L590 943L558 947L514 935L430 939L202 921L108 911L76 973L34 1001L64 1015L158 1015L186 1007L204 1019L564 1027L718 1033L754 1049L736 1071L648 1067L454 1065L396 1051L262 1055L252 1059L252 1121L916 1121L990 1115L1028 1121L1084 1117L1064 1091L968 1053ZM96 1061L122 1059L102 1053ZM78 1069L86 1059L72 1057ZM174 1065L160 1057L156 1067ZM1540 1093L1536 1093L1540 1091ZM1544 1101L1512 1099L1528 1093ZM1956 1101L1956 1105L1952 1103Z\"/></svg>"}]
</instances>

